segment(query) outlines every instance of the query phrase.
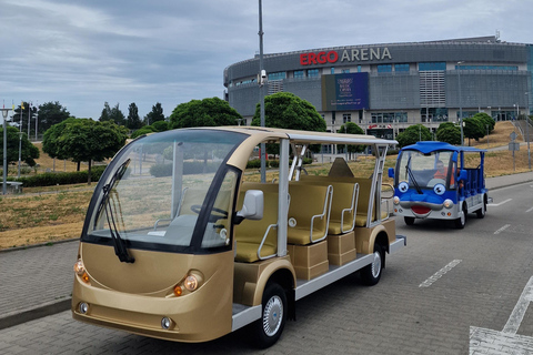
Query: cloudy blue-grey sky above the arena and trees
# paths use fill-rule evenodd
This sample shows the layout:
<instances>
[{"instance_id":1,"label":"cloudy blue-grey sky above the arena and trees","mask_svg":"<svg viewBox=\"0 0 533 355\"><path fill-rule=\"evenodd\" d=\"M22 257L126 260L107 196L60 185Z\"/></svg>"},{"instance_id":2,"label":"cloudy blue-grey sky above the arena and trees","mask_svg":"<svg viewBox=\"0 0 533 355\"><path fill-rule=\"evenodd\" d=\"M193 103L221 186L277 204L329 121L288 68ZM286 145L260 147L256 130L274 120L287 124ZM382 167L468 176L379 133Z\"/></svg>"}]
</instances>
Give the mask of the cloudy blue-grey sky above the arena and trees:
<instances>
[{"instance_id":1,"label":"cloudy blue-grey sky above the arena and trees","mask_svg":"<svg viewBox=\"0 0 533 355\"><path fill-rule=\"evenodd\" d=\"M533 0L263 0L263 51L495 36L533 43ZM223 97L224 68L259 53L259 0L0 0L0 104L59 102L98 120L119 104Z\"/></svg>"}]
</instances>

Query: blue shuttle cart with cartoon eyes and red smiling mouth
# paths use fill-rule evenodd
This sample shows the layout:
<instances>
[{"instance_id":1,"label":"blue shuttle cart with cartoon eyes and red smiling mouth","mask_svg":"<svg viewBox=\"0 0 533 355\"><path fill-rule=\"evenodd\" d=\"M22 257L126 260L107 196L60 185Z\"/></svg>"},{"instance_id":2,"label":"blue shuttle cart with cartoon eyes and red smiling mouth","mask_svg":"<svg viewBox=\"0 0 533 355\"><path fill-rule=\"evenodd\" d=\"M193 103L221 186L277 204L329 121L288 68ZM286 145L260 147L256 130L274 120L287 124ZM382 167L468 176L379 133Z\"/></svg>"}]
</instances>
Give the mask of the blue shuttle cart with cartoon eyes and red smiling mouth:
<instances>
[{"instance_id":1,"label":"blue shuttle cart with cartoon eyes and red smiling mouth","mask_svg":"<svg viewBox=\"0 0 533 355\"><path fill-rule=\"evenodd\" d=\"M485 150L443 142L418 142L400 150L394 178L394 213L408 225L415 219L453 221L463 229L466 214L483 219L489 194L484 180ZM491 200L492 201L492 200Z\"/></svg>"}]
</instances>

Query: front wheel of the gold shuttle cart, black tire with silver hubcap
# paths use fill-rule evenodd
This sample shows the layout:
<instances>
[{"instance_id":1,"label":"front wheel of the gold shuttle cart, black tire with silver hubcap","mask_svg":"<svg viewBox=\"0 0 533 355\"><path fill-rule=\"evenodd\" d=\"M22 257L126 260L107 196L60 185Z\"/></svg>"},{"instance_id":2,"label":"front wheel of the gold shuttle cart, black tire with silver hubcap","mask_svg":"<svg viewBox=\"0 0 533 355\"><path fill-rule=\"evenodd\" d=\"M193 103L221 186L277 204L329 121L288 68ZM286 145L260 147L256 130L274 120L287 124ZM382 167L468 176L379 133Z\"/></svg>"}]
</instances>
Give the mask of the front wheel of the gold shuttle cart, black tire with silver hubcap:
<instances>
[{"instance_id":1,"label":"front wheel of the gold shuttle cart, black tire with silver hubcap","mask_svg":"<svg viewBox=\"0 0 533 355\"><path fill-rule=\"evenodd\" d=\"M253 326L254 346L266 348L278 342L285 327L286 294L276 283L269 283L263 293L262 316Z\"/></svg>"}]
</instances>

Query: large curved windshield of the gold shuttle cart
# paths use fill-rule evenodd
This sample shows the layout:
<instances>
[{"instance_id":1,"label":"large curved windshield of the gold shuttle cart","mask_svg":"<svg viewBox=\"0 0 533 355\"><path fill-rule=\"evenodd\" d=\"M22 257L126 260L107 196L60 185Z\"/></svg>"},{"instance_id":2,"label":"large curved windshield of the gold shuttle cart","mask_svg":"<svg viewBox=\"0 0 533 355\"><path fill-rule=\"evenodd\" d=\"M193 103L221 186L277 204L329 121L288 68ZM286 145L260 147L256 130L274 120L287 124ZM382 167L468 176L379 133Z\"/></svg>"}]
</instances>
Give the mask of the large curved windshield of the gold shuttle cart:
<instances>
[{"instance_id":1,"label":"large curved windshield of the gold shuttle cart","mask_svg":"<svg viewBox=\"0 0 533 355\"><path fill-rule=\"evenodd\" d=\"M240 171L225 165L245 134L180 130L125 146L101 178L82 240L133 248L231 248Z\"/></svg>"}]
</instances>

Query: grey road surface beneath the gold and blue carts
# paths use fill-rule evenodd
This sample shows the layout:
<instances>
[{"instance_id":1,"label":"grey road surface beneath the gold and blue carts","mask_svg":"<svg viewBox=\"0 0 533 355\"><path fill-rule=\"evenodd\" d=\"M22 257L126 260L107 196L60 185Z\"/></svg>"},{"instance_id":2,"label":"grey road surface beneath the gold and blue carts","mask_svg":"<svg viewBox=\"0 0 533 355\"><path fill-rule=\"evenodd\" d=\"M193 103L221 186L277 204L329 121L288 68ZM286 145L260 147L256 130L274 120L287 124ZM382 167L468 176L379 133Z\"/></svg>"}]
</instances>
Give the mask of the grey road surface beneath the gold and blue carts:
<instances>
[{"instance_id":1,"label":"grey road surface beneath the gold and blue carts","mask_svg":"<svg viewBox=\"0 0 533 355\"><path fill-rule=\"evenodd\" d=\"M298 321L266 351L245 329L181 344L62 312L0 331L0 354L532 354L533 183L491 196L485 219L469 215L464 230L398 219L408 246L388 257L380 283L354 274L299 301Z\"/></svg>"}]
</instances>

